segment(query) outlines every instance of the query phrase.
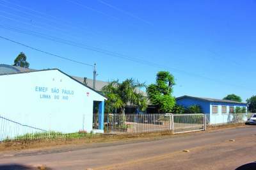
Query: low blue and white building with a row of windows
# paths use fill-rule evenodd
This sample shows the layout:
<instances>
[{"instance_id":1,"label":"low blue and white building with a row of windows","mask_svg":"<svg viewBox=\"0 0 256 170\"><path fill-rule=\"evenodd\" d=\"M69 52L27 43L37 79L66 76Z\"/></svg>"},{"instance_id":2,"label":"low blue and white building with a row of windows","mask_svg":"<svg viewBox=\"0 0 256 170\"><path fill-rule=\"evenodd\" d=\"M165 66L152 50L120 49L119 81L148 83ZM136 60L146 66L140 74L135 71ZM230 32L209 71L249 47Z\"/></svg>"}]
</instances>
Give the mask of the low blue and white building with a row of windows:
<instances>
[{"instance_id":1,"label":"low blue and white building with a row of windows","mask_svg":"<svg viewBox=\"0 0 256 170\"><path fill-rule=\"evenodd\" d=\"M246 110L247 104L243 102L236 102L232 100L220 100L214 98L202 98L202 97L190 97L182 96L176 98L178 105L189 107L191 105L199 105L204 114L207 114L207 119L211 124L228 123L232 121L233 113L236 107L241 107ZM247 120L246 114L244 114L243 120Z\"/></svg>"}]
</instances>

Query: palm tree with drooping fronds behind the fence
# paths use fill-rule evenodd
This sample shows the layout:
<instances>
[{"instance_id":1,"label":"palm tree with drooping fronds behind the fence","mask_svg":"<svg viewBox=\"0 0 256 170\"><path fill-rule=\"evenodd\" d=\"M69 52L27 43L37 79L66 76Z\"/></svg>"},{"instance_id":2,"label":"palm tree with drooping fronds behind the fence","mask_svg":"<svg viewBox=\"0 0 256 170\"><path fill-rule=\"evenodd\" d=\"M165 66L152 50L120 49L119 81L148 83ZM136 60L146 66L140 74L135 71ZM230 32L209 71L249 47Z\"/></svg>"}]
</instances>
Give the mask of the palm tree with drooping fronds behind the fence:
<instances>
[{"instance_id":1,"label":"palm tree with drooping fronds behind the fence","mask_svg":"<svg viewBox=\"0 0 256 170\"><path fill-rule=\"evenodd\" d=\"M113 81L102 88L102 92L108 100L106 101L106 112L121 109L124 114L127 104L137 105L141 111L147 109L147 97L140 91L145 83L137 83L134 79L126 79L122 83Z\"/></svg>"}]
</instances>

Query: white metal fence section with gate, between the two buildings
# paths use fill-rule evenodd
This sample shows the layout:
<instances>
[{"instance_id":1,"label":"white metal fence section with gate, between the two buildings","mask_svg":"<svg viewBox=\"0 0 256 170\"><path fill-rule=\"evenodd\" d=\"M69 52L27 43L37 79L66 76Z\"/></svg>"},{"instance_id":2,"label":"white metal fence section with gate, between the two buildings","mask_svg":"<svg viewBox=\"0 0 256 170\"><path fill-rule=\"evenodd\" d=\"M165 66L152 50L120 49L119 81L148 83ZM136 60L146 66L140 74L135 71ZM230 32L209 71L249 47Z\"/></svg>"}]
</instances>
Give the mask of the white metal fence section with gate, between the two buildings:
<instances>
[{"instance_id":1,"label":"white metal fence section with gate, between the two buildings","mask_svg":"<svg viewBox=\"0 0 256 170\"><path fill-rule=\"evenodd\" d=\"M98 115L93 116L93 128L98 128ZM173 133L205 130L204 114L106 114L105 134L127 134L172 130Z\"/></svg>"}]
</instances>

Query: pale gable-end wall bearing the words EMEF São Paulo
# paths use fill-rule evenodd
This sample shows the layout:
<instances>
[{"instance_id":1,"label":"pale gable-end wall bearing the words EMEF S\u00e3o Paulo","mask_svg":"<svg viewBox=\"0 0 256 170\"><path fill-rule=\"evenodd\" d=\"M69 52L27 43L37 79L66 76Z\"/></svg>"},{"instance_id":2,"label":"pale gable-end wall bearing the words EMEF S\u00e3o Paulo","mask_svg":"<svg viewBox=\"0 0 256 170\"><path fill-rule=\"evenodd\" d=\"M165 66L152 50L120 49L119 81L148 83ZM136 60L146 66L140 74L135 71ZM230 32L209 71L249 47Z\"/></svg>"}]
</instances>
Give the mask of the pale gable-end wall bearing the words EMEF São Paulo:
<instances>
[{"instance_id":1,"label":"pale gable-end wall bearing the words EMEF S\u00e3o Paulo","mask_svg":"<svg viewBox=\"0 0 256 170\"><path fill-rule=\"evenodd\" d=\"M59 70L0 75L0 115L32 127L90 132L93 100L106 98Z\"/></svg>"}]
</instances>

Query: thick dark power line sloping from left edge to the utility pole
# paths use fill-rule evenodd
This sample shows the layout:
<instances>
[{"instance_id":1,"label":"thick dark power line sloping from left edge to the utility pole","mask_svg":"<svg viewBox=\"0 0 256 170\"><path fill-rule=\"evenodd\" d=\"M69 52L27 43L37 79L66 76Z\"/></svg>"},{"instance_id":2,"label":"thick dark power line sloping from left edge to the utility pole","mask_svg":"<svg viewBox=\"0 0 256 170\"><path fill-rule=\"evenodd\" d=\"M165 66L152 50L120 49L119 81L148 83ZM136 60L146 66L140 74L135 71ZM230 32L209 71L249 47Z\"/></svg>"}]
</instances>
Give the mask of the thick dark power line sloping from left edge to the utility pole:
<instances>
[{"instance_id":1,"label":"thick dark power line sloping from left edge to the utility pole","mask_svg":"<svg viewBox=\"0 0 256 170\"><path fill-rule=\"evenodd\" d=\"M83 63L83 62L80 62L80 61L76 61L76 60L74 60L74 59L70 59L70 58L65 58L65 57L59 56L59 55L57 55L57 54L52 54L51 52L47 52L47 51L45 51L45 50L36 49L35 47L31 47L31 46L29 46L29 45L25 45L24 43L16 42L16 41L14 41L14 40L11 40L11 39L9 39L9 38L5 38L5 37L3 37L3 36L0 36L0 38L2 38L3 40L7 40L7 41L9 41L9 42L17 43L17 44L22 45L22 46L24 46L24 47L27 47L27 48L29 48L29 49L37 50L37 51L42 52L42 53L44 53L44 54L48 54L48 55L50 55L50 56L54 56L54 57L56 57L56 58L65 59L65 60L67 60L67 61L72 61L72 62L74 62L74 63L78 63L78 64L81 64L81 65L93 66L93 65L90 65L90 64L88 64L88 63Z\"/></svg>"}]
</instances>

